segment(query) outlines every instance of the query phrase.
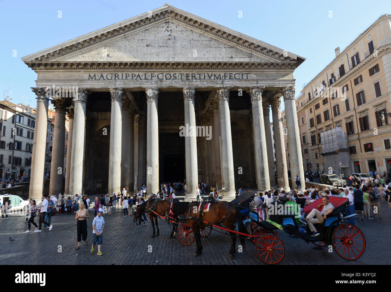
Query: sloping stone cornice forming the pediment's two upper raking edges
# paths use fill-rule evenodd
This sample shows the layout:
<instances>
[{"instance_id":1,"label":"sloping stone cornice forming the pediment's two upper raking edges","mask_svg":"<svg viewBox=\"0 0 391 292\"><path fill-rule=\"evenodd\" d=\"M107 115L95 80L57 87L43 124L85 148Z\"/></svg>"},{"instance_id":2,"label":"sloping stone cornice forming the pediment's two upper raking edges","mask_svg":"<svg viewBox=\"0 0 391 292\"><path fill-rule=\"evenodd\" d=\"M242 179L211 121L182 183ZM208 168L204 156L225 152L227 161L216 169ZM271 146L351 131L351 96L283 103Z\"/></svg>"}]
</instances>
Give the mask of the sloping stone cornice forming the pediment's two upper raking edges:
<instances>
[{"instance_id":1,"label":"sloping stone cornice forming the pediment's two upper raking edges","mask_svg":"<svg viewBox=\"0 0 391 292\"><path fill-rule=\"evenodd\" d=\"M50 61L72 54L73 52L88 48L98 43L117 38L123 34L150 27L154 23L172 21L183 24L192 30L199 31L215 39L226 40L235 47L254 52L259 56L265 56L277 62L294 61L296 67L305 59L297 55L287 53L279 48L263 43L234 30L228 29L211 21L179 10L172 6L164 6L155 9L153 13L144 13L126 21L111 25L109 27L91 32L76 39L72 39L60 45L48 48L38 53L23 57L24 62L29 61Z\"/></svg>"}]
</instances>

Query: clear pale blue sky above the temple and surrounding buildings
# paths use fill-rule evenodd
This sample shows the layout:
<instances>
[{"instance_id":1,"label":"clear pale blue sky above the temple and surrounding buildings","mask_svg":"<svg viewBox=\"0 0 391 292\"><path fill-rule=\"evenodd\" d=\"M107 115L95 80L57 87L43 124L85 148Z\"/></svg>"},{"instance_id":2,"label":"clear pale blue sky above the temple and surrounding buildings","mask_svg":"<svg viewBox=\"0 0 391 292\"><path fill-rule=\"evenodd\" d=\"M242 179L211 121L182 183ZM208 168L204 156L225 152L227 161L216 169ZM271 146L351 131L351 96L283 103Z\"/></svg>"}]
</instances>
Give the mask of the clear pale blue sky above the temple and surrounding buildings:
<instances>
[{"instance_id":1,"label":"clear pale blue sky above the temple and surrounding buildings","mask_svg":"<svg viewBox=\"0 0 391 292\"><path fill-rule=\"evenodd\" d=\"M342 51L381 14L391 13L389 0L168 3L305 57L307 60L294 72L296 96L303 83L334 59L336 47ZM0 0L0 100L11 91L12 102L36 106L30 87L35 86L37 74L22 57L163 5L163 0Z\"/></svg>"}]
</instances>

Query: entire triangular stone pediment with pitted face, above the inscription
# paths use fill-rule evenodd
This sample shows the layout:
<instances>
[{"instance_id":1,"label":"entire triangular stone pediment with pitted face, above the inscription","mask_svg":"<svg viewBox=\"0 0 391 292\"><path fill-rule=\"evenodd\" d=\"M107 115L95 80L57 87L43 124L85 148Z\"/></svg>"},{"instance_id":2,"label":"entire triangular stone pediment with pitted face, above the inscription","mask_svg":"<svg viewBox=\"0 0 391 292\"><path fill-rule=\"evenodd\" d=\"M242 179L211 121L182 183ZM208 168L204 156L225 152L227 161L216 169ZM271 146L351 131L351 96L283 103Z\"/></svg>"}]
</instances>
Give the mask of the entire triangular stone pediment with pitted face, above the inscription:
<instances>
[{"instance_id":1,"label":"entire triangular stone pediment with pitted face, above the inscription","mask_svg":"<svg viewBox=\"0 0 391 292\"><path fill-rule=\"evenodd\" d=\"M26 56L32 62L254 62L305 59L166 5ZM30 64L29 64L30 66Z\"/></svg>"}]
</instances>

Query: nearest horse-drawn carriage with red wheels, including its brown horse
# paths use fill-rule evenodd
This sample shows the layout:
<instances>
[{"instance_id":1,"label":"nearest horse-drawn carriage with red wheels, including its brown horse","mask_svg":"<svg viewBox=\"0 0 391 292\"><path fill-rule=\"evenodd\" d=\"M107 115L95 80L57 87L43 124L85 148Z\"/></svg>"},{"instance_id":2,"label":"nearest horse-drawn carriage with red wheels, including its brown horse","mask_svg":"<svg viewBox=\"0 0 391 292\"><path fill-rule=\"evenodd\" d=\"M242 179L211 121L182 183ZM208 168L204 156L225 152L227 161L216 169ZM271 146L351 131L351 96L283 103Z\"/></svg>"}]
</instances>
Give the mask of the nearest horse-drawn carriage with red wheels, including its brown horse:
<instances>
[{"instance_id":1,"label":"nearest horse-drawn carriage with red wheels, including its brown horse","mask_svg":"<svg viewBox=\"0 0 391 292\"><path fill-rule=\"evenodd\" d=\"M259 210L249 206L253 198L253 194L244 193L231 202L211 202L208 208L211 208L212 212L203 213L203 216L199 215L203 211L199 209L199 202L172 203L169 210L166 210L165 217L179 224L177 237L182 244L190 245L196 240L197 250L194 256L202 253L200 236L210 235L212 229L231 236L229 258L233 258L235 254L235 240L239 237L243 247L245 239L253 242L256 253L263 262L281 262L285 247L279 238L280 230L288 233L289 237L301 238L308 244L311 242L317 246L332 245L334 251L346 260L355 260L364 253L365 238L362 231L357 226L344 222L350 216L355 216L344 216L344 210L349 204L346 198L330 197L335 208L322 224L315 224L317 231L321 233L317 237L311 237L308 226L295 220L300 211L297 214L291 208L274 208L273 212L269 211L269 218L263 220ZM308 204L304 212L309 213L313 208L321 211L323 206L318 206L321 203L319 200L321 199ZM277 206L279 203L275 204ZM280 205L284 205L283 202L280 202ZM156 215L162 217L163 214Z\"/></svg>"}]
</instances>

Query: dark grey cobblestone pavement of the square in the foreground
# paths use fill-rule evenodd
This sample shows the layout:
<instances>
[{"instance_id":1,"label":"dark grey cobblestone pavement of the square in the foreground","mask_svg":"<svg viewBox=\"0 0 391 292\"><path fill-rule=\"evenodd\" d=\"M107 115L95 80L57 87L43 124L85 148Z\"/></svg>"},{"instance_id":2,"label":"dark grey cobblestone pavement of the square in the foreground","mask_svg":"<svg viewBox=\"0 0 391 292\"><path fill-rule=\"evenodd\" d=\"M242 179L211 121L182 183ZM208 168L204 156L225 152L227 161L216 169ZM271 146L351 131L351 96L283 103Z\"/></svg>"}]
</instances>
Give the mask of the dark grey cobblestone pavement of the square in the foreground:
<instances>
[{"instance_id":1,"label":"dark grey cobblestone pavement of the square in the foreground","mask_svg":"<svg viewBox=\"0 0 391 292\"><path fill-rule=\"evenodd\" d=\"M314 245L303 240L289 238L282 233L280 238L285 245L285 256L280 264L307 265L307 264L341 264L341 265L380 265L391 264L391 211L386 203L382 203L383 219L356 220L356 224L363 231L366 238L366 250L355 261L346 261L335 252L329 253L324 247L314 249ZM52 217L53 229L42 229L41 233L24 233L27 224L23 216L10 216L8 220L0 220L0 262L2 264L67 264L67 265L259 265L263 263L256 255L255 246L246 242L246 250L236 253L235 259L228 259L230 237L212 231L207 238L202 238L203 254L194 258L195 242L191 245L182 245L177 238L169 239L170 227L159 220L160 235L151 238L151 223L136 228L133 216L122 217L122 212L106 215L102 256L91 254L91 245L77 245L75 215L56 215ZM88 238L91 242L92 217L88 219ZM38 224L38 218L35 220ZM35 230L32 226L32 231ZM15 239L10 242L9 237ZM83 242L82 242L83 243ZM237 246L240 244L237 240ZM61 245L62 252L58 252ZM150 245L150 246L149 246ZM152 251L148 252L148 249Z\"/></svg>"}]
</instances>

